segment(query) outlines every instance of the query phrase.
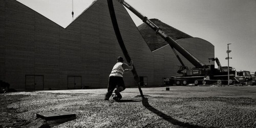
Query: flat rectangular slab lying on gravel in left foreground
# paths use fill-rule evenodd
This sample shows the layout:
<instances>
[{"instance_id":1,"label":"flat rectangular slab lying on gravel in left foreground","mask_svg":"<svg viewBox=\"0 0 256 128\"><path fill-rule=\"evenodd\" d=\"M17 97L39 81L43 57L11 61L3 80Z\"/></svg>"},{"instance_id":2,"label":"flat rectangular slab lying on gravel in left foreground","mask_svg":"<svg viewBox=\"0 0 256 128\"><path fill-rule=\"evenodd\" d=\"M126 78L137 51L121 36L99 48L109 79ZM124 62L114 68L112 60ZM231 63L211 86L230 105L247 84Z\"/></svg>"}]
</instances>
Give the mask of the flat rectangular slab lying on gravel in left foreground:
<instances>
[{"instance_id":1,"label":"flat rectangular slab lying on gravel in left foreground","mask_svg":"<svg viewBox=\"0 0 256 128\"><path fill-rule=\"evenodd\" d=\"M56 119L65 119L65 118L70 118L72 120L76 118L76 114L65 112L65 111L55 111L55 112L48 112L48 113L38 113L36 114L36 117L45 119L45 120L56 120Z\"/></svg>"}]
</instances>

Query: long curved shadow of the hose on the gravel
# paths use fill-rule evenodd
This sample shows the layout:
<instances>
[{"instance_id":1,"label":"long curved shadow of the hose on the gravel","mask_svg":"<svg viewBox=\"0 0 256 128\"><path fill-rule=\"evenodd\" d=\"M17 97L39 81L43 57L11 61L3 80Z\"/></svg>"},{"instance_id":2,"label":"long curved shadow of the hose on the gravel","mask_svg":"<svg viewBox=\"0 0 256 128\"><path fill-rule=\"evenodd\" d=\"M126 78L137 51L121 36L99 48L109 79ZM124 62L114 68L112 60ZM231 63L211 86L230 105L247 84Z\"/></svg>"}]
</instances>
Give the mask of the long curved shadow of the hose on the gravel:
<instances>
[{"instance_id":1,"label":"long curved shadow of the hose on the gravel","mask_svg":"<svg viewBox=\"0 0 256 128\"><path fill-rule=\"evenodd\" d=\"M168 122L170 122L170 123L172 123L174 125L179 125L179 126L183 126L183 127L197 127L197 128L201 127L201 128L203 128L203 126L198 126L198 125L194 125L194 124L189 124L189 123L181 122L181 121L179 121L177 119L174 119L174 118L172 118L172 117L162 113L161 111L153 108L153 106L151 106L148 103L148 99L147 98L143 98L142 99L142 104L143 104L143 106L145 106L145 108L147 110L150 110L151 112L157 114L159 117L163 118L164 120L166 120L166 121L168 121Z\"/></svg>"}]
</instances>

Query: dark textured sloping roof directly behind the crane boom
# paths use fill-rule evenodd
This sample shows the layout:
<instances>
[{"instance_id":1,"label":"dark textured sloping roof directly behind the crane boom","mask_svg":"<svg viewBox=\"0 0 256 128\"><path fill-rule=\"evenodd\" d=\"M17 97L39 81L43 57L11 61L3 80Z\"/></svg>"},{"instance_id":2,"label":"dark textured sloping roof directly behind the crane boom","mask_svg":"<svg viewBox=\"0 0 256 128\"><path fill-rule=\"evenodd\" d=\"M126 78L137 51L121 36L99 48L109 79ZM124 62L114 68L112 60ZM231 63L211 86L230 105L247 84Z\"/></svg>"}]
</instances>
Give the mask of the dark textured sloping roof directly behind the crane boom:
<instances>
[{"instance_id":1,"label":"dark textured sloping roof directly behind the crane boom","mask_svg":"<svg viewBox=\"0 0 256 128\"><path fill-rule=\"evenodd\" d=\"M159 28L161 28L168 36L170 36L174 40L192 37L178 29L175 29L175 28L161 22L159 19L153 18L150 20L155 25L157 25ZM168 45L168 43L161 36L156 34L156 32L152 28L150 28L148 25L146 25L145 23L138 26L138 29L139 29L142 37L146 41L146 44L148 45L148 47L150 47L150 50L152 52L163 47L163 46Z\"/></svg>"}]
</instances>

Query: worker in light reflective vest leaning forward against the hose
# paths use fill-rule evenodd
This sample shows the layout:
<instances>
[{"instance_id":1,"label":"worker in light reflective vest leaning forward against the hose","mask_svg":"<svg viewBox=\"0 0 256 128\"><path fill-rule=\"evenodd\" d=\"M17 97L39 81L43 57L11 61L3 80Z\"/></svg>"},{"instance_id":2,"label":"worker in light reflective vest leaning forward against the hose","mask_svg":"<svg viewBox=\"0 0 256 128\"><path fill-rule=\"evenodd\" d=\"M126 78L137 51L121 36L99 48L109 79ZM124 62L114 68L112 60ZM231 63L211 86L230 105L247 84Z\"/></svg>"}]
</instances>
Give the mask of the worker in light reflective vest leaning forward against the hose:
<instances>
[{"instance_id":1,"label":"worker in light reflective vest leaning forward against the hose","mask_svg":"<svg viewBox=\"0 0 256 128\"><path fill-rule=\"evenodd\" d=\"M123 62L123 57L119 56L117 58L117 63L113 67L110 76L109 76L109 84L108 84L108 92L105 95L104 100L109 100L110 96L112 95L114 89L117 86L117 89L115 92L114 100L120 100L122 98L122 95L120 92L125 90L124 81L123 81L123 73L129 70L133 70L133 61L127 65Z\"/></svg>"}]
</instances>

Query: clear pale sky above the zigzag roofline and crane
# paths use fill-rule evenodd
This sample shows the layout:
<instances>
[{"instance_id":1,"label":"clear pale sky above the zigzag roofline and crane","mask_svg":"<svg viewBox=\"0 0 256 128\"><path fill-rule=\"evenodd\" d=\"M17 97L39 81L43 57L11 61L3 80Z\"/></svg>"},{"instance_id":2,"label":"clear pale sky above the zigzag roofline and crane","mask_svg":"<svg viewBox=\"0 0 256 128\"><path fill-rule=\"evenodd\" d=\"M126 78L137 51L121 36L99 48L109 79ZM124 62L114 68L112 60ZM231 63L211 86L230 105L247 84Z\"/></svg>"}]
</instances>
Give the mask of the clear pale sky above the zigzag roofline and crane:
<instances>
[{"instance_id":1,"label":"clear pale sky above the zigzag roofline and crane","mask_svg":"<svg viewBox=\"0 0 256 128\"><path fill-rule=\"evenodd\" d=\"M72 0L17 0L66 28L72 22ZM74 18L94 0L73 0ZM193 37L215 46L215 57L222 66L256 71L256 1L255 0L126 0L148 18L158 18ZM135 24L142 21L128 11ZM172 51L170 51L172 52Z\"/></svg>"}]
</instances>

